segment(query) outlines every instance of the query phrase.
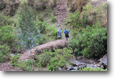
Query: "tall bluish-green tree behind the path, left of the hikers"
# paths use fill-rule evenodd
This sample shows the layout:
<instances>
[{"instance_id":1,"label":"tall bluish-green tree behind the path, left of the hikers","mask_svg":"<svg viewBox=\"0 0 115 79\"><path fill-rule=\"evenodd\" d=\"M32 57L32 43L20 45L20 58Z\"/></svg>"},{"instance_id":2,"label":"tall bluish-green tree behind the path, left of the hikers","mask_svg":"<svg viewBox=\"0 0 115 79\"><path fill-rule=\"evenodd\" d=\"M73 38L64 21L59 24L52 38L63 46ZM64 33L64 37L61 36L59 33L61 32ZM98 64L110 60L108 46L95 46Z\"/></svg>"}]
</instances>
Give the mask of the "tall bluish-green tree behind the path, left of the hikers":
<instances>
[{"instance_id":1,"label":"tall bluish-green tree behind the path, left of the hikers","mask_svg":"<svg viewBox=\"0 0 115 79\"><path fill-rule=\"evenodd\" d=\"M34 11L28 5L21 5L18 14L19 31L17 36L20 39L19 44L27 50L30 50L38 45L36 39L42 40L39 27L36 27Z\"/></svg>"}]
</instances>

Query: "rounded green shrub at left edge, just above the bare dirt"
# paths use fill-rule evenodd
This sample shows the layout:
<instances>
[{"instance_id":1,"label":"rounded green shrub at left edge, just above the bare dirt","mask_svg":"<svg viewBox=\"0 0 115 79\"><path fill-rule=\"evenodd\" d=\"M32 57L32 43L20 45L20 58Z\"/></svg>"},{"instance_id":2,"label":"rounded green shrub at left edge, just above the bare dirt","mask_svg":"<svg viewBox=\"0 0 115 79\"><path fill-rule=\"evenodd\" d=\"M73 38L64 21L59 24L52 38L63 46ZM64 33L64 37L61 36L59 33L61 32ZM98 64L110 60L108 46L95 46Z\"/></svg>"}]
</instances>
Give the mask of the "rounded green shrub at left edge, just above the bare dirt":
<instances>
[{"instance_id":1,"label":"rounded green shrub at left edge, just above the bare dirt","mask_svg":"<svg viewBox=\"0 0 115 79\"><path fill-rule=\"evenodd\" d=\"M10 48L8 45L0 45L0 63L4 62L6 56L10 54Z\"/></svg>"}]
</instances>

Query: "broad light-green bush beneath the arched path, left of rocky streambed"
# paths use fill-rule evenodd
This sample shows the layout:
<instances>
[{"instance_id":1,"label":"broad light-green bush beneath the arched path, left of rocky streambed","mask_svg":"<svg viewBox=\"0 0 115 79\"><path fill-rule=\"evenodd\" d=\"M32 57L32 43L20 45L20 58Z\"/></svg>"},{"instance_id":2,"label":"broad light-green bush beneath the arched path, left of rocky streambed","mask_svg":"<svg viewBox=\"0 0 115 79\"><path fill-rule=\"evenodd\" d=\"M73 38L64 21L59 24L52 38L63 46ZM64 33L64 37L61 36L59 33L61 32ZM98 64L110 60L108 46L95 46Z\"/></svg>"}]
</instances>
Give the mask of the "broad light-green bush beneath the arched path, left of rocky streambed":
<instances>
[{"instance_id":1,"label":"broad light-green bush beneath the arched path, left of rocky streambed","mask_svg":"<svg viewBox=\"0 0 115 79\"><path fill-rule=\"evenodd\" d=\"M46 51L36 56L36 59L40 66L47 66L50 71L53 71L68 64L68 61L73 58L73 55L70 53L72 53L72 50L67 48L57 49L55 52Z\"/></svg>"}]
</instances>

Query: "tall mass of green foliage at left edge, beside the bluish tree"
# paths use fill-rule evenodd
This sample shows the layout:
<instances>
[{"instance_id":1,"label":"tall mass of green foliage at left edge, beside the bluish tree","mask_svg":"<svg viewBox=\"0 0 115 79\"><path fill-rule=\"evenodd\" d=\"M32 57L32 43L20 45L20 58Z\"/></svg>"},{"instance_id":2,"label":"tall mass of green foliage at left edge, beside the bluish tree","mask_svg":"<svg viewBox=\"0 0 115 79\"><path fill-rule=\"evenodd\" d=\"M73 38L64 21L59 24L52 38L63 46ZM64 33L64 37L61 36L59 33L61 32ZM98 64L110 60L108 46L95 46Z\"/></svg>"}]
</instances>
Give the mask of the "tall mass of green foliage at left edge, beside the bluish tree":
<instances>
[{"instance_id":1,"label":"tall mass of green foliage at left edge, beside the bluish tree","mask_svg":"<svg viewBox=\"0 0 115 79\"><path fill-rule=\"evenodd\" d=\"M0 62L4 62L10 54L12 47L16 44L16 37L13 28L8 26L0 27ZM15 46L16 48L16 46Z\"/></svg>"}]
</instances>

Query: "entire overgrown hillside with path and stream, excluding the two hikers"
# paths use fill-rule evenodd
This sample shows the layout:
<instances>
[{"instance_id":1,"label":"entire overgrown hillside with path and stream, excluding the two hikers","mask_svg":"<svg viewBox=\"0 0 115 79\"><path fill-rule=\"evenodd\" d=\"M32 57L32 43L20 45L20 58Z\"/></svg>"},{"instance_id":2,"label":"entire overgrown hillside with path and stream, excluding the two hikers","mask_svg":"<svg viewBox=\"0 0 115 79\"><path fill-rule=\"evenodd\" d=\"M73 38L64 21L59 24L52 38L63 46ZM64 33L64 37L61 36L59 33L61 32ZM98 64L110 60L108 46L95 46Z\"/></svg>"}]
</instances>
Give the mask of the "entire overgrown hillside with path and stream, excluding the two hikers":
<instances>
[{"instance_id":1,"label":"entire overgrown hillside with path and stream, excluding the two hikers","mask_svg":"<svg viewBox=\"0 0 115 79\"><path fill-rule=\"evenodd\" d=\"M107 71L107 0L1 0L0 71L45 70Z\"/></svg>"}]
</instances>

